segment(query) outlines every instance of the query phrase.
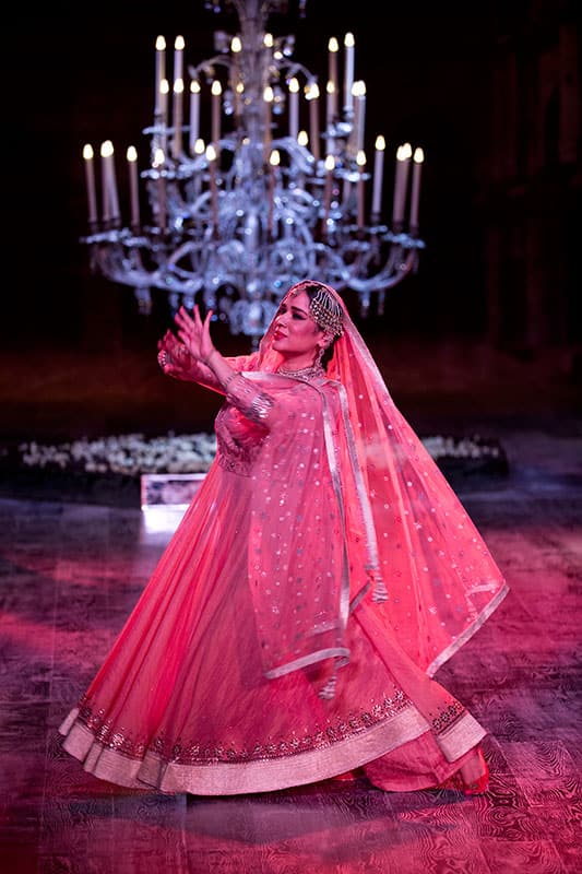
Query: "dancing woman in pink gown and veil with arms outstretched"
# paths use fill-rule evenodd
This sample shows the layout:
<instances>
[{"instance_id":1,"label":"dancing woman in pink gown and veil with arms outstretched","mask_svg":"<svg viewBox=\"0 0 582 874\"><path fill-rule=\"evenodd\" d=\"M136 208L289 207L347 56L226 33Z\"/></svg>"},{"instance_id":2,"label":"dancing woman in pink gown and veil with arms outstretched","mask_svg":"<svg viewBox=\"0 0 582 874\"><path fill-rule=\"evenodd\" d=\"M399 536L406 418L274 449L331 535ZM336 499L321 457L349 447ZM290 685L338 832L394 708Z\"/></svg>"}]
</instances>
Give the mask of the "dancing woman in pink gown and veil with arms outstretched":
<instances>
[{"instance_id":1,"label":"dancing woman in pink gown and veil with arms outstretched","mask_svg":"<svg viewBox=\"0 0 582 874\"><path fill-rule=\"evenodd\" d=\"M225 394L216 459L64 748L169 793L360 768L484 791L486 732L432 680L507 593L477 530L332 288L292 287L248 356L219 354L211 316L180 310L158 361Z\"/></svg>"}]
</instances>

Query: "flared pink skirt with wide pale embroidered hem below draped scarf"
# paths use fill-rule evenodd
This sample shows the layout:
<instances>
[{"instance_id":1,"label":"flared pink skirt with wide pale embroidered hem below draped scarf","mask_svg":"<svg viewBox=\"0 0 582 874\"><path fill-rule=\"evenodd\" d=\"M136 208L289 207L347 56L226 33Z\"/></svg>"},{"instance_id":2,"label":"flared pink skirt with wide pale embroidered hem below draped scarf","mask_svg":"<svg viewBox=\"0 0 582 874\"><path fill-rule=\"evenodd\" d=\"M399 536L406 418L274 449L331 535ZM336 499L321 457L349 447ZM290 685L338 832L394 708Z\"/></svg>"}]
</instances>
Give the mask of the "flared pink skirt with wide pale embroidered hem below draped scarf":
<instances>
[{"instance_id":1,"label":"flared pink skirt with wide pale embroidered hem below draped scarf","mask_svg":"<svg viewBox=\"0 0 582 874\"><path fill-rule=\"evenodd\" d=\"M252 480L216 462L94 681L62 722L96 777L161 792L227 795L364 767L378 787L483 787L483 727L415 671L375 605L349 617L349 662L265 678L248 589ZM466 779L468 775L468 779Z\"/></svg>"}]
</instances>

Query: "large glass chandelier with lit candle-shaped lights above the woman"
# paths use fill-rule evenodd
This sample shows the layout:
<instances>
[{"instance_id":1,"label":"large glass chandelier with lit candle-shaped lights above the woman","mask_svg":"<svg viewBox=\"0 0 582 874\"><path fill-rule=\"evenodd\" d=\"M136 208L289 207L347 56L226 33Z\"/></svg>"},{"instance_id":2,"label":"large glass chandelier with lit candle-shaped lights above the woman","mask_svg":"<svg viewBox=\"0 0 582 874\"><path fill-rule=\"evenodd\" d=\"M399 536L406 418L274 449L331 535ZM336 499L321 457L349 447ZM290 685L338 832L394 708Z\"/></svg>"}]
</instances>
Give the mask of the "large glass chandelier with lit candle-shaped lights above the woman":
<instances>
[{"instance_id":1,"label":"large glass chandelier with lit candle-shaped lights above the woman","mask_svg":"<svg viewBox=\"0 0 582 874\"><path fill-rule=\"evenodd\" d=\"M417 268L423 150L399 145L392 215L382 221L385 141L365 152L366 85L356 80L355 40L328 44L328 81L294 60L294 36L266 29L284 0L227 0L239 32L214 34L214 57L188 66L175 38L171 85L166 40L155 44L155 108L149 158L127 150L130 221L119 206L114 145L83 150L92 270L133 287L140 311L152 290L169 305L212 308L253 343L281 297L312 277L352 291L360 315L382 312L387 290ZM301 13L306 0L301 0ZM221 11L219 2L206 3ZM201 123L203 111L207 125ZM205 116L204 116L205 117ZM143 193L140 190L143 181ZM147 208L142 215L142 204Z\"/></svg>"}]
</instances>

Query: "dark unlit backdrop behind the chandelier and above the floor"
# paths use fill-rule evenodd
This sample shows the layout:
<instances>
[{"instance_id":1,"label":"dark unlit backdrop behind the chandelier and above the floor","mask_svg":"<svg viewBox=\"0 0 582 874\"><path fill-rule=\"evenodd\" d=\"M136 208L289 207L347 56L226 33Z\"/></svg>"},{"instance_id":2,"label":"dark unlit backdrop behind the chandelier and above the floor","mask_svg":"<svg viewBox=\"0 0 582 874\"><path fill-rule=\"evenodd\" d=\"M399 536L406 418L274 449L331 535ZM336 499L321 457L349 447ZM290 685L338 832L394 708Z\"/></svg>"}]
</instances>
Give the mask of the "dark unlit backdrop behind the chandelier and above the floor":
<instances>
[{"instance_id":1,"label":"dark unlit backdrop behind the chandelier and above the floor","mask_svg":"<svg viewBox=\"0 0 582 874\"><path fill-rule=\"evenodd\" d=\"M581 310L572 226L580 217L580 149L573 161L546 167L542 176L495 178L504 149L495 135L496 105L504 98L503 80L499 88L495 79L499 59L511 46L525 47L518 57L527 94L534 87L534 81L527 84L532 52L546 50L544 39L551 47L565 23L578 28L574 5L367 2L349 11L331 0L308 0L305 17L289 3L286 14L270 19L274 33L296 35L296 59L323 82L329 37L342 44L345 32L354 33L355 78L367 85L368 155L377 133L388 141L385 215L393 170L388 155L405 140L425 150L420 231L427 249L419 271L388 293L382 317L360 323L397 400L419 423L429 406L447 421L459 404L464 411L489 403L525 414L536 404L551 410L561 398L575 403ZM235 32L236 20L231 12L209 11L202 0L58 3L14 13L3 38L10 123L2 436L211 427L217 399L157 369L156 341L171 323L162 293L154 292L154 311L143 317L131 288L90 271L80 243L87 229L81 153L85 142L98 152L103 140L114 141L127 217L122 156L129 144L145 149L141 131L152 121L155 37L166 36L170 59L174 37L182 34L186 63L197 63L213 54L213 32ZM551 138L553 130L539 135L549 131ZM515 253L531 198L547 203L542 212L554 216L553 238L561 246L544 256L560 269L556 287L546 277L543 290L534 290L534 297L544 298L535 330L523 297L531 273L523 279ZM516 240L497 265L507 309L492 321L491 229ZM556 327L541 331L556 308ZM216 342L231 354L249 350L248 338L219 328ZM524 391L527 386L536 388Z\"/></svg>"}]
</instances>

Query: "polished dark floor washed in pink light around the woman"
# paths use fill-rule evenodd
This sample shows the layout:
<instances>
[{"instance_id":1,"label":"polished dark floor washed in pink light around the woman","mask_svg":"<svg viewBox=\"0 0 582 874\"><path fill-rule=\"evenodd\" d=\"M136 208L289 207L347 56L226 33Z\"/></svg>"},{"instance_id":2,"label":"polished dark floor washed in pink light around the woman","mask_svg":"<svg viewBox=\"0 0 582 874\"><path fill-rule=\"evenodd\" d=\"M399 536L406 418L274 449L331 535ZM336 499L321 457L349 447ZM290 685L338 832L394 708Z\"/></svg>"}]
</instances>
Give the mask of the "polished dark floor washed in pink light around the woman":
<instances>
[{"instance_id":1,"label":"polished dark floor washed in pink light around the woman","mask_svg":"<svg viewBox=\"0 0 582 874\"><path fill-rule=\"evenodd\" d=\"M179 512L0 497L0 871L581 871L582 422L494 425L510 475L458 492L511 592L438 675L489 731L491 783L476 798L358 780L187 800L85 773L57 727Z\"/></svg>"}]
</instances>

